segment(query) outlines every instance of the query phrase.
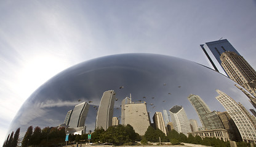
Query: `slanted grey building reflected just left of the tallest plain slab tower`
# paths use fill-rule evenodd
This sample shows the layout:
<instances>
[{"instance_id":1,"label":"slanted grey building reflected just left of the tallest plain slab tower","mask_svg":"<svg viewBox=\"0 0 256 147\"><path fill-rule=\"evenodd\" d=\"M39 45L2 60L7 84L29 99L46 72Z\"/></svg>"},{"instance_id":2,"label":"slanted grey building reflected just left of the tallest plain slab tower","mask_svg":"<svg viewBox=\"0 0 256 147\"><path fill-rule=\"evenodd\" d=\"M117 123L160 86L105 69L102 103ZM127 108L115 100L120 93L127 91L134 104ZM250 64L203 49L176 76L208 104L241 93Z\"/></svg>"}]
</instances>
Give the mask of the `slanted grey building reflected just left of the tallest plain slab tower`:
<instances>
[{"instance_id":1,"label":"slanted grey building reflected just left of the tallest plain slab tower","mask_svg":"<svg viewBox=\"0 0 256 147\"><path fill-rule=\"evenodd\" d=\"M81 104L76 105L71 114L69 126L72 128L84 127L88 111L89 104L87 104L87 102L82 102Z\"/></svg>"}]
</instances>

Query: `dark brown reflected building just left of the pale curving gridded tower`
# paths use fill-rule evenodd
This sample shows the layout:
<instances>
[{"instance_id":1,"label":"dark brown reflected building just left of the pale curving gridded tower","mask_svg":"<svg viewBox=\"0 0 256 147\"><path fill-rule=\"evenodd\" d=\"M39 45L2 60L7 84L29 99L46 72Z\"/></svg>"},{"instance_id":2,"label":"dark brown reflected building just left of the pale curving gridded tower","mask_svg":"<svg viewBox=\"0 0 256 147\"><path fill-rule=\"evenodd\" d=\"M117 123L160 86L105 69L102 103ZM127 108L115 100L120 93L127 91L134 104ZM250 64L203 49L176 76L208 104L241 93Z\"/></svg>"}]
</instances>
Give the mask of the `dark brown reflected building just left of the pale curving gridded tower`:
<instances>
[{"instance_id":1,"label":"dark brown reflected building just left of the pale curving gridded tower","mask_svg":"<svg viewBox=\"0 0 256 147\"><path fill-rule=\"evenodd\" d=\"M241 135L239 134L238 127L234 124L233 119L228 114L227 111L217 112L220 120L222 120L222 124L224 129L228 130L228 134L230 135L230 140L234 141L242 141Z\"/></svg>"}]
</instances>

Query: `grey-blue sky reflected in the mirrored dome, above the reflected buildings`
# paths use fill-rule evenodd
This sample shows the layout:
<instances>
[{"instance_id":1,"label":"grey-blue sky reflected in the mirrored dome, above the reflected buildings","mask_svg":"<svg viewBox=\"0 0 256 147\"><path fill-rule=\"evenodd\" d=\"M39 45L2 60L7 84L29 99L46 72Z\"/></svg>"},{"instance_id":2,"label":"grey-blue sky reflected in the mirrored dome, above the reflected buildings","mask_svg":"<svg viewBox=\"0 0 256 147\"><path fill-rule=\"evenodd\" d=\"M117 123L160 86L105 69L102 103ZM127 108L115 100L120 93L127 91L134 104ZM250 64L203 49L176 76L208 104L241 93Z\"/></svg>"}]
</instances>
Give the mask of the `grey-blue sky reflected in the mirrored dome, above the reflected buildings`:
<instances>
[{"instance_id":1,"label":"grey-blue sky reflected in the mirrored dome, above the reflected buildings","mask_svg":"<svg viewBox=\"0 0 256 147\"><path fill-rule=\"evenodd\" d=\"M154 112L167 110L169 114L170 108L181 105L188 119L196 119L198 126L202 126L188 100L190 94L200 96L211 111L226 111L215 98L216 89L241 102L248 111L254 108L235 84L224 75L185 59L152 54L105 56L70 67L47 81L26 100L10 130L21 127L22 134L28 126L58 126L75 105L87 102L90 107L86 132L93 131L96 108L103 92L111 89L117 98L113 116L120 116L119 119L121 101L132 94L132 102L146 102L151 122Z\"/></svg>"}]
</instances>

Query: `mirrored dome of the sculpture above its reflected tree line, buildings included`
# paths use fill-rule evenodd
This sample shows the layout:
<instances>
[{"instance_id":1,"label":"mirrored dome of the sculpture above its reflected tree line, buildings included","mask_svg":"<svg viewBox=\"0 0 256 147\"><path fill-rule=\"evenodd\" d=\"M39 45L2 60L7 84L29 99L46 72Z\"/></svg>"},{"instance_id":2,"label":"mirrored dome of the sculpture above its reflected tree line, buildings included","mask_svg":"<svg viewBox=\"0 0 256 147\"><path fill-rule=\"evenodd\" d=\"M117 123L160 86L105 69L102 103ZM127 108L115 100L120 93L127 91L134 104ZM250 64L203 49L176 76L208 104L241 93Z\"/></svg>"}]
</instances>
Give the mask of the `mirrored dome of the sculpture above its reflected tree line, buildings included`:
<instances>
[{"instance_id":1,"label":"mirrored dome of the sculpture above its reflected tree line, buildings included","mask_svg":"<svg viewBox=\"0 0 256 147\"><path fill-rule=\"evenodd\" d=\"M20 108L10 130L20 127L22 135L29 126L66 125L82 134L119 122L143 135L161 116L164 123L157 126L165 133L169 125L185 135L212 131L223 140L255 141L255 108L246 93L196 62L111 55L77 64L44 83Z\"/></svg>"}]
</instances>

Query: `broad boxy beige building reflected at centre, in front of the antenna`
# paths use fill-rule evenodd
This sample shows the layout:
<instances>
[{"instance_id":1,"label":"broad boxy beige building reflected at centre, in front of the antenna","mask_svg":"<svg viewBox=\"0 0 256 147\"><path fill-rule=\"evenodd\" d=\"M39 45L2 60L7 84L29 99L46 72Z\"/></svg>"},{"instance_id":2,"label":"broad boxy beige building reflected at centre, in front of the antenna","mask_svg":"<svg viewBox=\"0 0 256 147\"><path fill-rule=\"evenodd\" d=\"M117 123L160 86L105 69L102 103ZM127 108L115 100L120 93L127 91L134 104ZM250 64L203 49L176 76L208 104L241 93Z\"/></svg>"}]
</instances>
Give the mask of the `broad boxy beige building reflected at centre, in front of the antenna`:
<instances>
[{"instance_id":1,"label":"broad boxy beige building reflected at centre, in front of the antenna","mask_svg":"<svg viewBox=\"0 0 256 147\"><path fill-rule=\"evenodd\" d=\"M132 102L124 105L125 123L134 127L136 133L144 135L150 126L150 116L146 110L146 102Z\"/></svg>"}]
</instances>

